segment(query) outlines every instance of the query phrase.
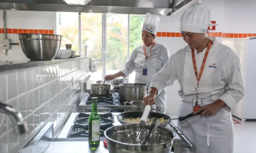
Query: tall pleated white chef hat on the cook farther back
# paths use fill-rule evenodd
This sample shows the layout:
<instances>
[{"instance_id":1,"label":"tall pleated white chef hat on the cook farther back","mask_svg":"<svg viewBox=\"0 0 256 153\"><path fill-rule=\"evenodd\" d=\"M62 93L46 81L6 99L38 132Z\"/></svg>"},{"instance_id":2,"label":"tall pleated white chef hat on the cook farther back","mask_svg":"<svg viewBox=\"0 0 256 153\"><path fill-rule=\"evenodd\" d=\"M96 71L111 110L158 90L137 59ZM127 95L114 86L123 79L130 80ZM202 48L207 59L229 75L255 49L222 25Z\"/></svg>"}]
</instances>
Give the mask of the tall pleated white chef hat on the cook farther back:
<instances>
[{"instance_id":1,"label":"tall pleated white chef hat on the cook farther back","mask_svg":"<svg viewBox=\"0 0 256 153\"><path fill-rule=\"evenodd\" d=\"M147 31L153 35L157 34L160 17L156 14L146 13L145 20L143 23L142 31Z\"/></svg>"}]
</instances>

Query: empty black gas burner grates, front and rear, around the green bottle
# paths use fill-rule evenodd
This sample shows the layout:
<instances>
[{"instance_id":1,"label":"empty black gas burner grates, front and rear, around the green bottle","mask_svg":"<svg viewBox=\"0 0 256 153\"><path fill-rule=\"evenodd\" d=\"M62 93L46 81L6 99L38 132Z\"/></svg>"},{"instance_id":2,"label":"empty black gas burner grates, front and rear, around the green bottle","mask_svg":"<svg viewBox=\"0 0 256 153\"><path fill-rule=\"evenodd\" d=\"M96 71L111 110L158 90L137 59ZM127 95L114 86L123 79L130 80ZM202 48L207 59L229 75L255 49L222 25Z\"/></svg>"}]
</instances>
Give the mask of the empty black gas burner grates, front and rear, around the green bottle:
<instances>
[{"instance_id":1,"label":"empty black gas burner grates, front and rear, around the green bottle","mask_svg":"<svg viewBox=\"0 0 256 153\"><path fill-rule=\"evenodd\" d=\"M67 138L88 138L89 136L89 115L86 113L79 113L74 119L74 125L70 127ZM104 137L104 131L113 126L115 122L112 113L103 113L100 115L100 137Z\"/></svg>"}]
</instances>

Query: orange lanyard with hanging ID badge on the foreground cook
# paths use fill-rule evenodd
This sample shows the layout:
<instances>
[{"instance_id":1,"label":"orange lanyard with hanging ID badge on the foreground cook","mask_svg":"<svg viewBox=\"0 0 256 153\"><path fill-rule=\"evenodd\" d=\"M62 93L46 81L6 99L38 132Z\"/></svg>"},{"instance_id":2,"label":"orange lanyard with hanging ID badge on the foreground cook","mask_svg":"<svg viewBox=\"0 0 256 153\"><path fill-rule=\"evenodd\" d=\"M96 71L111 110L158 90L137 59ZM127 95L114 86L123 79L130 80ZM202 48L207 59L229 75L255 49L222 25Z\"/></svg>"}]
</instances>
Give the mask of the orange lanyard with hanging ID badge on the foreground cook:
<instances>
[{"instance_id":1,"label":"orange lanyard with hanging ID badge on the foreground cook","mask_svg":"<svg viewBox=\"0 0 256 153\"><path fill-rule=\"evenodd\" d=\"M194 66L194 70L195 70L195 74L196 74L196 78L197 78L197 87L195 88L196 92L197 92L197 98L193 99L193 110L194 110L194 112L202 107L202 99L198 98L199 81L201 79L201 76L202 76L202 73L203 73L203 70L204 70L204 65L205 65L208 53L210 51L210 46L212 45L212 43L213 42L210 40L209 44L207 46L206 52L204 54L204 59L203 59L202 65L201 65L201 69L199 71L199 75L198 75L198 72L197 72L197 63L196 63L196 57L195 57L195 50L192 49L192 52L191 52L192 59L193 59L193 66Z\"/></svg>"}]
</instances>

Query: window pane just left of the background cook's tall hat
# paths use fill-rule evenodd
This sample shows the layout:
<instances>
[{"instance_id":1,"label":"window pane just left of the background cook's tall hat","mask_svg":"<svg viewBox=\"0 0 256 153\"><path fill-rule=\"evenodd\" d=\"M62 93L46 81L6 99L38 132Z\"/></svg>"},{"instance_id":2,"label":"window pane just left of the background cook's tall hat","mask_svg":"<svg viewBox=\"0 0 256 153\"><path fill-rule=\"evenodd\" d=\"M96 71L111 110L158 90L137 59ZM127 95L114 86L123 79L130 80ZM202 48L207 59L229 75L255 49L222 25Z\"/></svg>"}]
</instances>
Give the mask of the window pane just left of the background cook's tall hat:
<instances>
[{"instance_id":1,"label":"window pane just left of the background cook's tall hat","mask_svg":"<svg viewBox=\"0 0 256 153\"><path fill-rule=\"evenodd\" d=\"M128 15L106 14L106 75L123 68L127 61Z\"/></svg>"}]
</instances>

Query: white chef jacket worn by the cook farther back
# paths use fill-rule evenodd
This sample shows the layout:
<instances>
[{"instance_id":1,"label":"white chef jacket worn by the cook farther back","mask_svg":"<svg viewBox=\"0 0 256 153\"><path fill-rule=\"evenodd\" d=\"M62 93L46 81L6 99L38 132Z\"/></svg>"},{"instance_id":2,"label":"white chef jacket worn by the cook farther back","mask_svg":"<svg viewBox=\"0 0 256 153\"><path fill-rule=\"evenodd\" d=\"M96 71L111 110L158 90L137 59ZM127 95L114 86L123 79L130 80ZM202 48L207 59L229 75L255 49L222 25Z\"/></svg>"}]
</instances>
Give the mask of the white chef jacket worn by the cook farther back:
<instances>
[{"instance_id":1,"label":"white chef jacket worn by the cook farther back","mask_svg":"<svg viewBox=\"0 0 256 153\"><path fill-rule=\"evenodd\" d=\"M149 47L145 46L146 55L150 53L152 45ZM156 42L146 60L147 75L142 75L145 55L143 44L141 44L133 50L130 59L126 62L121 72L125 75L125 77L127 77L135 70L135 83L144 83L150 85L153 75L161 70L168 58L168 48L165 45ZM163 88L161 95L156 98L156 103L160 106L163 105L160 111L161 113L165 113L165 100L166 94L165 89Z\"/></svg>"}]
</instances>

